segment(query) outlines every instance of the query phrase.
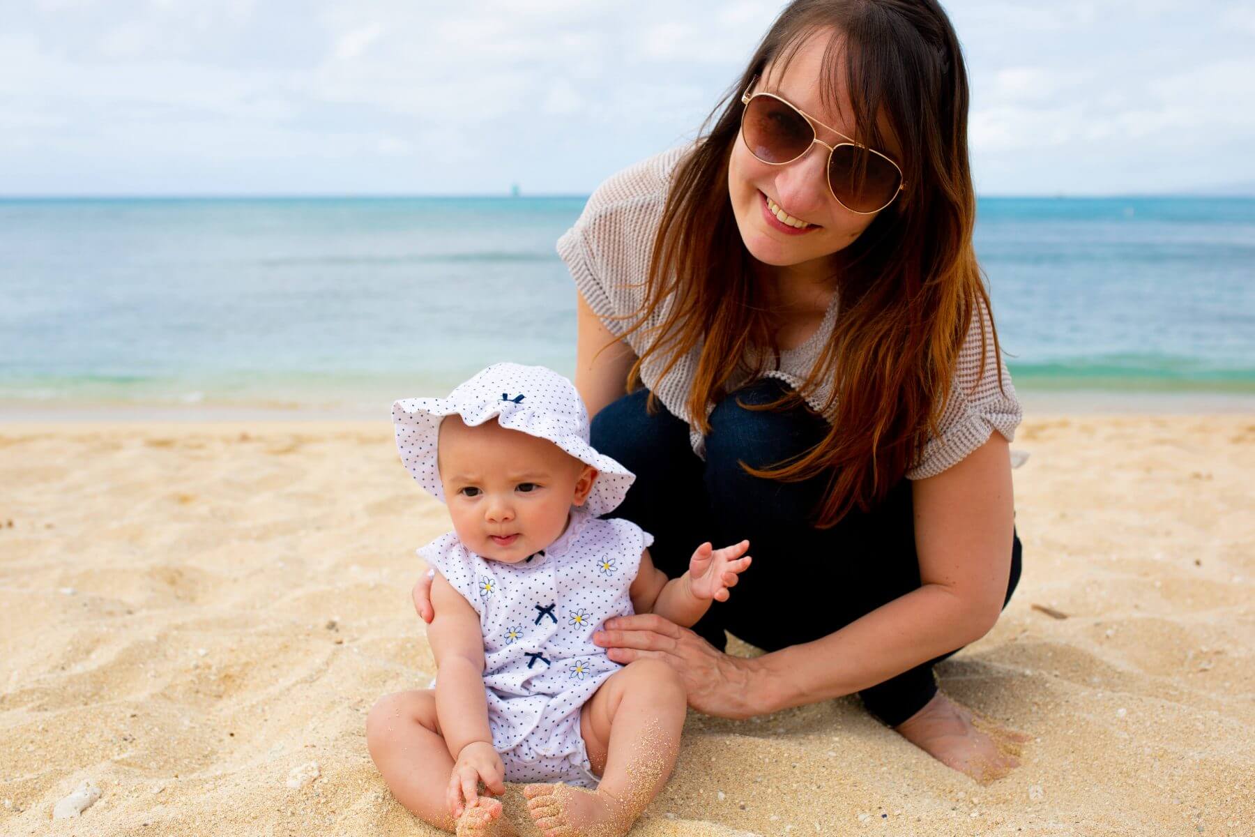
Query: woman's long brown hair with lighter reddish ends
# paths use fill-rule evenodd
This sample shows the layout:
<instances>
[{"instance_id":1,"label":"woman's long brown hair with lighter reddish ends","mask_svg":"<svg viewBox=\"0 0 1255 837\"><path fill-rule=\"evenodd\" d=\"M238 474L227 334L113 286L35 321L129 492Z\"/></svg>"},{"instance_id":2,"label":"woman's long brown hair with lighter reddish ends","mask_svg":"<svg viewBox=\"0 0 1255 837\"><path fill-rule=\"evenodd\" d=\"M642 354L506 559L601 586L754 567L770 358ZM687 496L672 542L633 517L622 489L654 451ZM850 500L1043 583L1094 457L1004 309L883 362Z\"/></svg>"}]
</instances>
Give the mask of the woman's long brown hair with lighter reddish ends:
<instances>
[{"instance_id":1,"label":"woman's long brown hair with lighter reddish ends","mask_svg":"<svg viewBox=\"0 0 1255 837\"><path fill-rule=\"evenodd\" d=\"M878 504L937 432L973 317L980 324L983 359L988 349L989 295L971 243L976 198L968 162L968 77L954 29L934 0L797 0L779 14L675 168L645 302L631 330L643 328L653 311L665 315L648 330L649 348L633 365L628 388L638 384L651 355L665 359L665 376L700 346L686 409L709 433L705 405L724 398L747 364L757 364L749 370L754 375L763 371L763 353L754 348L777 349L763 289L728 200L728 159L739 139L742 92L768 63L787 67L817 33L833 35L821 97L840 107L835 92L843 74L856 139L886 148L876 119L881 115L897 138L907 184L833 256L840 317L801 389L756 408L804 405L804 395L827 379L826 438L767 468L742 463L768 479L825 478L813 520L830 527L855 506L866 511ZM991 316L989 330L996 363ZM656 409L653 394L649 404Z\"/></svg>"}]
</instances>

